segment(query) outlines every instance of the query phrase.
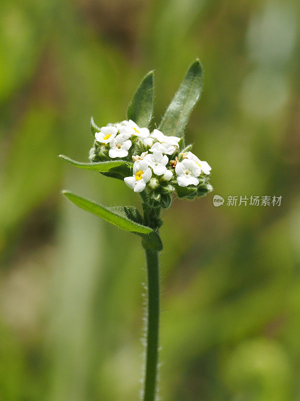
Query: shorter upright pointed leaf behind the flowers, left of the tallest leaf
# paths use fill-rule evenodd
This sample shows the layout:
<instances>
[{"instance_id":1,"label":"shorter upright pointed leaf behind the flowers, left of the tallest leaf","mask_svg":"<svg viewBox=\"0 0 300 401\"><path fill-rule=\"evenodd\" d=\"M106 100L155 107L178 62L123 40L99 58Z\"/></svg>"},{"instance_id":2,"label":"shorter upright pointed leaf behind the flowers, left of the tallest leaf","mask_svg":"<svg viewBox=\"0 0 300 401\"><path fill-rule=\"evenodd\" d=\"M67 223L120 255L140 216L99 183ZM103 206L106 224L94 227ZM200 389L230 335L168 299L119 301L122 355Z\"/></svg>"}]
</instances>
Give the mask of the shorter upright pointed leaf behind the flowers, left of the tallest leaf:
<instances>
[{"instance_id":1,"label":"shorter upright pointed leaf behind the flowers, left of the tallest leaf","mask_svg":"<svg viewBox=\"0 0 300 401\"><path fill-rule=\"evenodd\" d=\"M127 109L127 119L147 127L153 114L153 71L143 77Z\"/></svg>"}]
</instances>

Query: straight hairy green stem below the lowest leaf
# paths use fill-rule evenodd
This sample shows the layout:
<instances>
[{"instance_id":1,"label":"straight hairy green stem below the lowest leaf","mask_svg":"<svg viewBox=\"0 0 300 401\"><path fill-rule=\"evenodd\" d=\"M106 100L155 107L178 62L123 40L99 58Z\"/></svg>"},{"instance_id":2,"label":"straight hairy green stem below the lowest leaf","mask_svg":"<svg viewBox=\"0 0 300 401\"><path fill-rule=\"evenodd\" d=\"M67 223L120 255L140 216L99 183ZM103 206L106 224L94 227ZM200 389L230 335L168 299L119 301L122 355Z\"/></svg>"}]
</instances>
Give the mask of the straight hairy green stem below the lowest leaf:
<instances>
[{"instance_id":1,"label":"straight hairy green stem below the lowest leaf","mask_svg":"<svg viewBox=\"0 0 300 401\"><path fill-rule=\"evenodd\" d=\"M158 325L159 325L159 271L158 253L145 249L148 278L148 324L146 370L143 401L154 401L157 384Z\"/></svg>"}]
</instances>

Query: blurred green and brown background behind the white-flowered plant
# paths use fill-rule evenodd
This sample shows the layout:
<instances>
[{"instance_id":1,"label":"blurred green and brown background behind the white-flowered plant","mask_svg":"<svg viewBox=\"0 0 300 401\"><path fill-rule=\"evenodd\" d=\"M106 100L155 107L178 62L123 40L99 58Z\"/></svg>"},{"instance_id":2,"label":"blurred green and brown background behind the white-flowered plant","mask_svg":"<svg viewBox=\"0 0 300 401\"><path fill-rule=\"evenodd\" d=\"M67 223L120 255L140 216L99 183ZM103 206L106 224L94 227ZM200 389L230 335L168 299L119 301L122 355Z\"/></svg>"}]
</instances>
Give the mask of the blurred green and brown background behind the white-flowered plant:
<instances>
[{"instance_id":1,"label":"blurred green and brown background behind the white-flowered plant","mask_svg":"<svg viewBox=\"0 0 300 401\"><path fill-rule=\"evenodd\" d=\"M215 191L161 230L164 401L300 400L299 4L2 0L0 401L132 401L140 389L140 241L64 199L137 205L86 160L89 117L120 121L155 69L159 122L199 57L187 127ZM212 195L282 196L280 207Z\"/></svg>"}]
</instances>

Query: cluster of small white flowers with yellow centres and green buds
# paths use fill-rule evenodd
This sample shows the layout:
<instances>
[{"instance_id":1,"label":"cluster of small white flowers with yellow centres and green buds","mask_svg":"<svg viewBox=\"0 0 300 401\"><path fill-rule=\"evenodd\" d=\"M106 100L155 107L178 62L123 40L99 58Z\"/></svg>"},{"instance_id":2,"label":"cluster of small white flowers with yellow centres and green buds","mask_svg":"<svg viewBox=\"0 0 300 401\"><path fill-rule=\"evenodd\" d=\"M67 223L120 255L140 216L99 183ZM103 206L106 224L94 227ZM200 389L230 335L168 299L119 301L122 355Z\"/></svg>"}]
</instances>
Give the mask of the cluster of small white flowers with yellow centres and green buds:
<instances>
[{"instance_id":1,"label":"cluster of small white flowers with yellow centres and green buds","mask_svg":"<svg viewBox=\"0 0 300 401\"><path fill-rule=\"evenodd\" d=\"M179 197L202 196L212 188L208 183L211 167L184 147L183 139L166 136L158 129L150 133L132 120L108 124L95 132L91 161L122 159L133 163L133 174L124 182L141 192L146 187L153 203L168 207L170 194ZM164 199L164 200L163 200Z\"/></svg>"}]
</instances>

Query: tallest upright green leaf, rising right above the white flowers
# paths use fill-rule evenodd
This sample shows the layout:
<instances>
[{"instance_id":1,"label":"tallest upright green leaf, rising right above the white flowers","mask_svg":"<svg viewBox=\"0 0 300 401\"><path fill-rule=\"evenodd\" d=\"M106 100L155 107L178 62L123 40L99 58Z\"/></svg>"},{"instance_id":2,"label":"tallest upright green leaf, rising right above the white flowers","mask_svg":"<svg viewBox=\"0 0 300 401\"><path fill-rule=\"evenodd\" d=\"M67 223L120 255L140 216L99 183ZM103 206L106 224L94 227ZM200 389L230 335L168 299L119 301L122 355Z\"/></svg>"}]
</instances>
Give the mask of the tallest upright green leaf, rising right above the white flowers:
<instances>
[{"instance_id":1,"label":"tallest upright green leaf, rising right above the white flowers","mask_svg":"<svg viewBox=\"0 0 300 401\"><path fill-rule=\"evenodd\" d=\"M202 81L202 68L197 59L188 68L159 124L158 129L165 135L183 137L191 110L200 97Z\"/></svg>"}]
</instances>

